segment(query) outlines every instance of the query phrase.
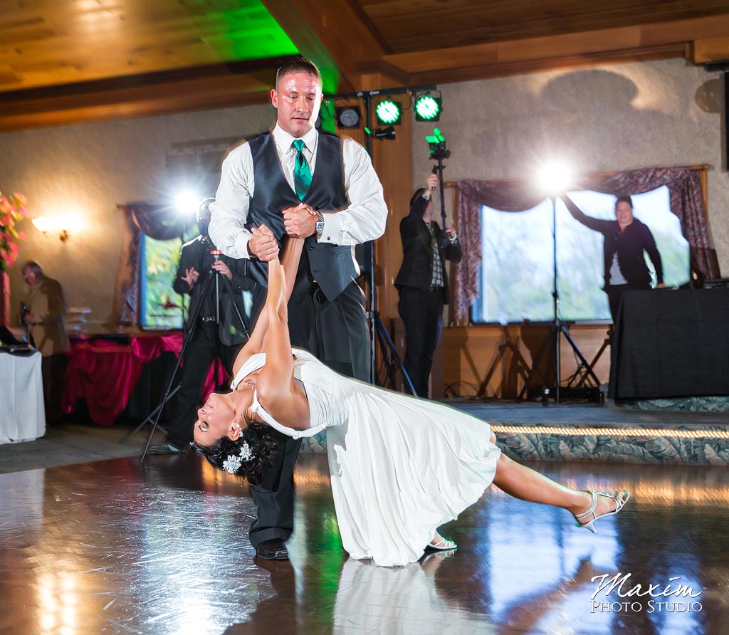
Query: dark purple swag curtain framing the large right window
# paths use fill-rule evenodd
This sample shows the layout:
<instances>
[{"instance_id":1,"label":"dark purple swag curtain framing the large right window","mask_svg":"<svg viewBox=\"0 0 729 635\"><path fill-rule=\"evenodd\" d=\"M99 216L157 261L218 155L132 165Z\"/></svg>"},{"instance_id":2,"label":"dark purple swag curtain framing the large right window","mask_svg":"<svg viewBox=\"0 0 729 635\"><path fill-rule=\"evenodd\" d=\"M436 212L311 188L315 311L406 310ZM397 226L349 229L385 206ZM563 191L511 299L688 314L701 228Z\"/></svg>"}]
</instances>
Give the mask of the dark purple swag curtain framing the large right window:
<instances>
[{"instance_id":1,"label":"dark purple swag curtain framing the large right window","mask_svg":"<svg viewBox=\"0 0 729 635\"><path fill-rule=\"evenodd\" d=\"M503 211L526 211L545 197L534 192L526 182L464 180L455 185L458 192L456 219L463 247L463 258L456 265L453 289L453 318L459 323L468 316L478 291L477 272L481 265L480 206ZM585 179L580 183L580 189L623 196L655 190L661 185L668 187L671 211L681 221L683 234L690 246L692 267L706 278L718 278L719 264L709 237L697 169L644 168L618 172L611 176Z\"/></svg>"}]
</instances>

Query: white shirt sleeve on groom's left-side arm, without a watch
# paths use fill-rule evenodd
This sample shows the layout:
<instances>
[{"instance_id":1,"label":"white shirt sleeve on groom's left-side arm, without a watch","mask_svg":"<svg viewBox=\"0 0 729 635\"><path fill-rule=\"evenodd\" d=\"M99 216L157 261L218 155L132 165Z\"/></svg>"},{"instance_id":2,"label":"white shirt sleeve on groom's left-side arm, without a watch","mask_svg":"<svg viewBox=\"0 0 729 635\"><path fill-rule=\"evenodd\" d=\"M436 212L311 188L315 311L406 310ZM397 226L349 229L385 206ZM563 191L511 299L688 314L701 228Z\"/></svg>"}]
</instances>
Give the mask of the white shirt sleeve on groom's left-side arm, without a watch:
<instances>
[{"instance_id":1,"label":"white shirt sleeve on groom's left-side arm, without a watch","mask_svg":"<svg viewBox=\"0 0 729 635\"><path fill-rule=\"evenodd\" d=\"M243 144L225 157L215 200L210 203L208 234L215 246L231 258L251 257L248 251L251 233L245 224L253 188L251 149Z\"/></svg>"}]
</instances>

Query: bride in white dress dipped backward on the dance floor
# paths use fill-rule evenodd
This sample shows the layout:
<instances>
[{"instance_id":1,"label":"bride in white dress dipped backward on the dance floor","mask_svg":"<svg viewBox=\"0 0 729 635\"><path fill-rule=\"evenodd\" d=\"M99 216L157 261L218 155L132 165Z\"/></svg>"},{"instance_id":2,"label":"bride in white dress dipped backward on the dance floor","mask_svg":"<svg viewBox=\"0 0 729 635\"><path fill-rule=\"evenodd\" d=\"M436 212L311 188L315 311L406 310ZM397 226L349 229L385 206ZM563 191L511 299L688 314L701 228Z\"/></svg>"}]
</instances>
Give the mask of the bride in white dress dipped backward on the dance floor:
<instances>
[{"instance_id":1,"label":"bride in white dress dipped backward on the dance floor","mask_svg":"<svg viewBox=\"0 0 729 635\"><path fill-rule=\"evenodd\" d=\"M437 528L491 483L516 498L562 507L594 533L598 518L623 508L627 491L578 491L512 461L480 419L344 377L292 349L286 303L302 247L303 240L289 239L282 262L278 254L269 260L265 307L233 366L233 391L211 394L198 410L192 446L211 464L256 485L281 434L326 429L343 547L381 566L415 562L426 548L455 549Z\"/></svg>"}]
</instances>

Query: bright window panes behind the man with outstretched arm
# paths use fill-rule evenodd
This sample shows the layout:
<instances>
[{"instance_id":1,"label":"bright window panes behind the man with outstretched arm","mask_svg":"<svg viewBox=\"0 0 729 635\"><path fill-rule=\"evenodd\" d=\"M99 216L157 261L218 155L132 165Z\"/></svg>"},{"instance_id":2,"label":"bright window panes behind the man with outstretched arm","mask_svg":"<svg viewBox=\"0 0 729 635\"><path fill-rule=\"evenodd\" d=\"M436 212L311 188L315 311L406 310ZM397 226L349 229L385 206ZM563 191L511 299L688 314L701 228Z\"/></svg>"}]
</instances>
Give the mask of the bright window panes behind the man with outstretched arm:
<instances>
[{"instance_id":1,"label":"bright window panes behind the man with outstretched arm","mask_svg":"<svg viewBox=\"0 0 729 635\"><path fill-rule=\"evenodd\" d=\"M590 217L615 219L615 197L584 190L570 198ZM634 216L655 238L667 287L689 279L689 246L671 213L668 187L633 195ZM477 269L473 322L508 324L554 319L555 214L559 319L609 320L604 285L603 236L573 219L564 203L542 200L532 209L507 212L480 206L483 260ZM652 263L647 263L653 271ZM653 271L655 285L655 271Z\"/></svg>"}]
</instances>

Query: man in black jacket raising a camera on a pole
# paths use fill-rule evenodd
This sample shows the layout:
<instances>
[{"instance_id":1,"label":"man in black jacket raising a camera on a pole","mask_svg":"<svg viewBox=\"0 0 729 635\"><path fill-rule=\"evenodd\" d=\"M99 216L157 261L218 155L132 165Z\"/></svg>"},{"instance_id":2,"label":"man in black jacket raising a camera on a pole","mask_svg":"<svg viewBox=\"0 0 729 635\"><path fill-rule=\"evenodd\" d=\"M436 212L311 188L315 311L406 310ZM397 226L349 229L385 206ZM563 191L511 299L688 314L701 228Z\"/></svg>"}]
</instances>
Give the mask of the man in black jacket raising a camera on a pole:
<instances>
[{"instance_id":1,"label":"man in black jacket raising a camera on a pole","mask_svg":"<svg viewBox=\"0 0 729 635\"><path fill-rule=\"evenodd\" d=\"M405 370L418 397L428 397L433 351L443 326L443 305L448 302L445 260L461 260L456 230L443 230L432 220L431 192L438 177L431 174L427 187L410 199L410 214L400 221L402 267L395 287L400 299L397 311L405 324ZM409 390L409 387L406 386Z\"/></svg>"}]
</instances>

